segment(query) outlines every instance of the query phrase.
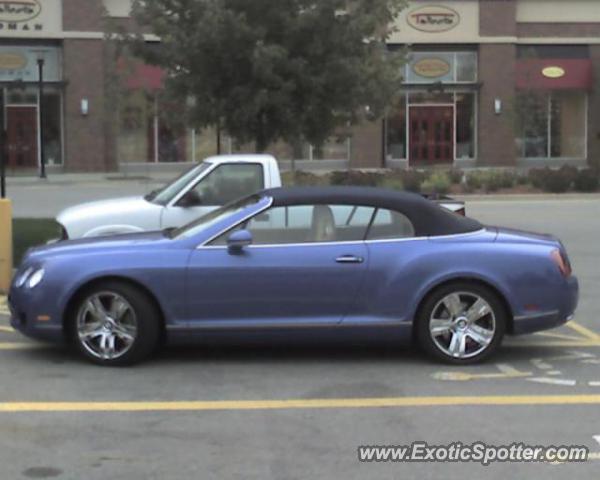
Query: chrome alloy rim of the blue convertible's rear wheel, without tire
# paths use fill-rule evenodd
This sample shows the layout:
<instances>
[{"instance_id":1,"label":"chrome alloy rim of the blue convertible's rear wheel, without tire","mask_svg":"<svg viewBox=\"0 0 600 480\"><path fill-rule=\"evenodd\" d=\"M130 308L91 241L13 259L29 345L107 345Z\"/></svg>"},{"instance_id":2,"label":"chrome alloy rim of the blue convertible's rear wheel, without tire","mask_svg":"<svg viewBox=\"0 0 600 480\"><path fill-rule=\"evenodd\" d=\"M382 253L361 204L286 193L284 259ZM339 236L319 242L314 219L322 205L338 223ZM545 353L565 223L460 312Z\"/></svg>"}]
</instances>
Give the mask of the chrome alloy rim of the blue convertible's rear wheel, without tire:
<instances>
[{"instance_id":1,"label":"chrome alloy rim of the blue convertible's rear wheel, without tire","mask_svg":"<svg viewBox=\"0 0 600 480\"><path fill-rule=\"evenodd\" d=\"M490 346L496 333L496 317L490 304L479 295L454 292L433 308L429 333L443 353L468 359Z\"/></svg>"}]
</instances>

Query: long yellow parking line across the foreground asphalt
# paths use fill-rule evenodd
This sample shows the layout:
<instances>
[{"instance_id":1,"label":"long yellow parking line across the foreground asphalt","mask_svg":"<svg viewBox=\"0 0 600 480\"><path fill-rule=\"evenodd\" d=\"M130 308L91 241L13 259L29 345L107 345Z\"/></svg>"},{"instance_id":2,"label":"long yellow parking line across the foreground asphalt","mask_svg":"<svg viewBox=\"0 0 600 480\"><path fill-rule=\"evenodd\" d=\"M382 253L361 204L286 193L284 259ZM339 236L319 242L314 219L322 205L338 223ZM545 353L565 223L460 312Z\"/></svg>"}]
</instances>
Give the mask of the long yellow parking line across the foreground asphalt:
<instances>
[{"instance_id":1,"label":"long yellow parking line across the foreground asphalt","mask_svg":"<svg viewBox=\"0 0 600 480\"><path fill-rule=\"evenodd\" d=\"M156 412L214 410L302 410L330 408L598 405L600 395L507 395L473 397L316 398L189 402L6 402L0 412Z\"/></svg>"}]
</instances>

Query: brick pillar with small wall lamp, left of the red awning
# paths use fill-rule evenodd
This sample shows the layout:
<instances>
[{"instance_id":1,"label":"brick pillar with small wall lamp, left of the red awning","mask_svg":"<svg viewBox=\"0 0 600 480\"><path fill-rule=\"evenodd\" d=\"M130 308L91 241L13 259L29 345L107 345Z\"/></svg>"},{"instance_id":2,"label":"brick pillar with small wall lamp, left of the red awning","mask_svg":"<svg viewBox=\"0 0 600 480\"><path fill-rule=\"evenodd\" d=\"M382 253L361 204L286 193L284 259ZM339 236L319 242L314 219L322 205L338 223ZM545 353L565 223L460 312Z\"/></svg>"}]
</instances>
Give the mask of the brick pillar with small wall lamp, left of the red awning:
<instances>
[{"instance_id":1,"label":"brick pillar with small wall lamp, left of the red awning","mask_svg":"<svg viewBox=\"0 0 600 480\"><path fill-rule=\"evenodd\" d=\"M479 155L478 165L514 166L515 130L511 105L515 96L516 47L484 44L479 50ZM500 99L503 111L495 113Z\"/></svg>"}]
</instances>

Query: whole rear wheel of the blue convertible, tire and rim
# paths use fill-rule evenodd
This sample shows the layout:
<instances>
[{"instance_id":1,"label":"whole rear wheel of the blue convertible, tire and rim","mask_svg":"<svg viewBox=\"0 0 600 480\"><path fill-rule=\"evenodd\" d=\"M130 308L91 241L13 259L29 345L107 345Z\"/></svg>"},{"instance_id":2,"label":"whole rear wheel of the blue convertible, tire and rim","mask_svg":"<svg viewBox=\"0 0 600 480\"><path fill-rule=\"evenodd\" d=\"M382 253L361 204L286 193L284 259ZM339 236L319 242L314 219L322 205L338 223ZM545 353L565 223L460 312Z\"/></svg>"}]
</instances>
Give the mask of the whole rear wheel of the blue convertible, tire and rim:
<instances>
[{"instance_id":1,"label":"whole rear wheel of the blue convertible, tire and rim","mask_svg":"<svg viewBox=\"0 0 600 480\"><path fill-rule=\"evenodd\" d=\"M502 343L507 313L492 290L454 283L434 291L417 318L417 338L434 357L452 364L478 363Z\"/></svg>"}]
</instances>

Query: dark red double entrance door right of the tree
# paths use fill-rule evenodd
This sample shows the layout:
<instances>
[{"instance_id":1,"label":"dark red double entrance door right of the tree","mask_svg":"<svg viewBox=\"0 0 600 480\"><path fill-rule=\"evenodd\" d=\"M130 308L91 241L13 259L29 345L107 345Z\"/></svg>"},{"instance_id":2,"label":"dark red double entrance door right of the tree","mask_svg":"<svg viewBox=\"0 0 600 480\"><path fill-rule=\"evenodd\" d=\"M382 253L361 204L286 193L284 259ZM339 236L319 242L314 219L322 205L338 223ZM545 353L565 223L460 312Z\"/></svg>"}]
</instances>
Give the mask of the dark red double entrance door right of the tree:
<instances>
[{"instance_id":1,"label":"dark red double entrance door right of the tree","mask_svg":"<svg viewBox=\"0 0 600 480\"><path fill-rule=\"evenodd\" d=\"M454 108L410 107L411 165L454 161Z\"/></svg>"}]
</instances>

